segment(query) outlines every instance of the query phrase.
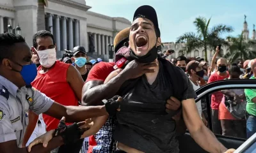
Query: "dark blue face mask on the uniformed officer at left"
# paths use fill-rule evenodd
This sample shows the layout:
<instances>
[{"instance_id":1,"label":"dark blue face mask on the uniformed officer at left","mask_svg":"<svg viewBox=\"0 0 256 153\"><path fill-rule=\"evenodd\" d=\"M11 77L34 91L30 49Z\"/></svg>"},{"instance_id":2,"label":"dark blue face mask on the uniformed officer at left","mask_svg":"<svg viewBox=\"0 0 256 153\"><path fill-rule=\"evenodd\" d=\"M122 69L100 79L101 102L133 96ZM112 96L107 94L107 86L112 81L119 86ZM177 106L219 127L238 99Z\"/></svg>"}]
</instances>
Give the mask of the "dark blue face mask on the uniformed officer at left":
<instances>
[{"instance_id":1,"label":"dark blue face mask on the uniformed officer at left","mask_svg":"<svg viewBox=\"0 0 256 153\"><path fill-rule=\"evenodd\" d=\"M12 70L20 73L20 75L22 76L26 85L31 85L31 82L33 82L33 80L35 80L36 75L37 75L36 64L31 63L28 65L22 66L21 64L19 64L17 62L14 62L14 63L21 66L22 69L21 69L21 71L17 71L16 69L12 69Z\"/></svg>"}]
</instances>

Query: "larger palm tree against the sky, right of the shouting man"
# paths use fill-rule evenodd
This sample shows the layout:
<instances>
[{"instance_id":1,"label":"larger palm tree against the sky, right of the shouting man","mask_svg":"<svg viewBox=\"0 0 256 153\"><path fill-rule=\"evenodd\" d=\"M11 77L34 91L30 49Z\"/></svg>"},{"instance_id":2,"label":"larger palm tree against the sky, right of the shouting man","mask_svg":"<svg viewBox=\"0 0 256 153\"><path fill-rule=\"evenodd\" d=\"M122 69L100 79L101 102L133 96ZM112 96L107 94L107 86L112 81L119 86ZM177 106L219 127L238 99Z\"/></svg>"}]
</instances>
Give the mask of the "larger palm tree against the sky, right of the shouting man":
<instances>
[{"instance_id":1,"label":"larger palm tree against the sky, right of the shouting man","mask_svg":"<svg viewBox=\"0 0 256 153\"><path fill-rule=\"evenodd\" d=\"M232 27L222 24L210 29L210 21L211 18L209 20L204 17L196 18L193 23L196 26L197 33L189 32L177 38L177 43L186 43L184 50L187 52L191 52L195 48L204 47L205 61L207 61L207 47L215 50L219 44L228 45L228 42L220 37L220 34L234 31Z\"/></svg>"}]
</instances>

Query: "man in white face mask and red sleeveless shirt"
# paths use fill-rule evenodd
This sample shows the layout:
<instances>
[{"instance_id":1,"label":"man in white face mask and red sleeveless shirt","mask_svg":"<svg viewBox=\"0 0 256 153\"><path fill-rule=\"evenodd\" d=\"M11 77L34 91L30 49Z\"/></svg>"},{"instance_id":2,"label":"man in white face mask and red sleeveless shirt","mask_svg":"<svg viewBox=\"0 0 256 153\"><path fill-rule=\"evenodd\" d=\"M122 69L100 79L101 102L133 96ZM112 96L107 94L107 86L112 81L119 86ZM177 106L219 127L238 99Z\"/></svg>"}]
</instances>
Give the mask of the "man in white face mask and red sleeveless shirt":
<instances>
[{"instance_id":1,"label":"man in white face mask and red sleeveless shirt","mask_svg":"<svg viewBox=\"0 0 256 153\"><path fill-rule=\"evenodd\" d=\"M40 65L35 80L31 85L38 91L43 92L54 101L65 106L78 106L81 101L83 78L79 71L71 64L56 61L56 44L54 37L49 31L38 31L33 36L33 54L38 55ZM29 126L35 126L38 117L35 113L29 112ZM31 117L33 115L33 117ZM46 130L56 129L60 120L43 114ZM32 133L32 131L31 131ZM79 152L83 140L62 145L52 152Z\"/></svg>"}]
</instances>

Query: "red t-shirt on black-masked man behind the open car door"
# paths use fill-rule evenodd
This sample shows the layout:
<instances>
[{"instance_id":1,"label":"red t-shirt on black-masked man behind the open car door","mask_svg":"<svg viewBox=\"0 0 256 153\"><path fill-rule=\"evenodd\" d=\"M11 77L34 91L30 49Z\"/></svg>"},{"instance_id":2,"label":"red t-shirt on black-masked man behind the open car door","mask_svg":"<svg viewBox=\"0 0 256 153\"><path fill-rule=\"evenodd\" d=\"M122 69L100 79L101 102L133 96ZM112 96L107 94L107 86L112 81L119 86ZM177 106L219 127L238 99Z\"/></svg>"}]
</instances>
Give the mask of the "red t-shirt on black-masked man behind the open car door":
<instances>
[{"instance_id":1,"label":"red t-shirt on black-masked man behind the open car door","mask_svg":"<svg viewBox=\"0 0 256 153\"><path fill-rule=\"evenodd\" d=\"M213 73L208 80L208 84L211 82L216 82L219 80L224 80L225 78L228 78L229 74L227 73L227 76L222 77L218 75L218 72ZM211 97L211 108L212 110L218 110L219 105L221 103L221 99L223 98L223 94L220 91L214 92Z\"/></svg>"}]
</instances>

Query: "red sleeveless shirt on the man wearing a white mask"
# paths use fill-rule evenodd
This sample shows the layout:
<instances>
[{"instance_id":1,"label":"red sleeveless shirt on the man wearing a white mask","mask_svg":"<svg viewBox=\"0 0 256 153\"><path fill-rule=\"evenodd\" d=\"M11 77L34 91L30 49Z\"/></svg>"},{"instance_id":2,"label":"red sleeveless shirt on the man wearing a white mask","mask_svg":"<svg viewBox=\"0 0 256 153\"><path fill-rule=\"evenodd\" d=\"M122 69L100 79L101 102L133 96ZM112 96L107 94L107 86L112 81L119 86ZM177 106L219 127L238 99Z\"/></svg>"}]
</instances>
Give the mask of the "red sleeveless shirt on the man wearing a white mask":
<instances>
[{"instance_id":1,"label":"red sleeveless shirt on the man wearing a white mask","mask_svg":"<svg viewBox=\"0 0 256 153\"><path fill-rule=\"evenodd\" d=\"M67 82L69 66L70 64L56 61L54 66L44 74L39 73L41 69L39 66L37 76L31 85L61 105L78 106L76 94ZM43 114L43 118L47 125L47 131L58 127L60 120L45 114Z\"/></svg>"}]
</instances>

